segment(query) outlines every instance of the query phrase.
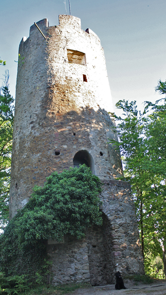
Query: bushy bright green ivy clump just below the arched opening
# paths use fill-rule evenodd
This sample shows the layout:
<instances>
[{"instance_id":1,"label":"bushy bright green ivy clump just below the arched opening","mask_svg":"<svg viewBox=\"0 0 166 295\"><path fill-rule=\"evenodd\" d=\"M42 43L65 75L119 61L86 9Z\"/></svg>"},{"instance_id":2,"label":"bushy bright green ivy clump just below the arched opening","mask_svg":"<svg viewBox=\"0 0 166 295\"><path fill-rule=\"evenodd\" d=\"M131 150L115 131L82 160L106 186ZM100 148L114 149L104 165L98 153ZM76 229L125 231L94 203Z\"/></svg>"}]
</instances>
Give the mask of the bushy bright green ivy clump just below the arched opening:
<instances>
[{"instance_id":1,"label":"bushy bright green ivy clump just below the arched opening","mask_svg":"<svg viewBox=\"0 0 166 295\"><path fill-rule=\"evenodd\" d=\"M35 186L31 201L20 217L18 237L21 243L57 239L69 233L80 239L90 224L102 224L99 211L99 178L86 165L52 173L44 187Z\"/></svg>"}]
</instances>

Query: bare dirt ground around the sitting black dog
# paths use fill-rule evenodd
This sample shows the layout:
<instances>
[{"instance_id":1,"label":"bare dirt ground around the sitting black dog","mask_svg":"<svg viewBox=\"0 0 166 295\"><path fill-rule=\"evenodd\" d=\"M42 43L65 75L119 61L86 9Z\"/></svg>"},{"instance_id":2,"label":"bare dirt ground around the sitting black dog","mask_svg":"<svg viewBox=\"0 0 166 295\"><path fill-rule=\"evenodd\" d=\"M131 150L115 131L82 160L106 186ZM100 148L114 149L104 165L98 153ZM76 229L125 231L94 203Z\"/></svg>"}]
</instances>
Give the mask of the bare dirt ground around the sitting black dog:
<instances>
[{"instance_id":1,"label":"bare dirt ground around the sitting black dog","mask_svg":"<svg viewBox=\"0 0 166 295\"><path fill-rule=\"evenodd\" d=\"M87 287L73 291L72 295L166 295L166 281L158 281L150 284L138 283L134 285L132 281L125 283L125 290L115 290L115 285ZM67 295L69 295L67 294Z\"/></svg>"}]
</instances>

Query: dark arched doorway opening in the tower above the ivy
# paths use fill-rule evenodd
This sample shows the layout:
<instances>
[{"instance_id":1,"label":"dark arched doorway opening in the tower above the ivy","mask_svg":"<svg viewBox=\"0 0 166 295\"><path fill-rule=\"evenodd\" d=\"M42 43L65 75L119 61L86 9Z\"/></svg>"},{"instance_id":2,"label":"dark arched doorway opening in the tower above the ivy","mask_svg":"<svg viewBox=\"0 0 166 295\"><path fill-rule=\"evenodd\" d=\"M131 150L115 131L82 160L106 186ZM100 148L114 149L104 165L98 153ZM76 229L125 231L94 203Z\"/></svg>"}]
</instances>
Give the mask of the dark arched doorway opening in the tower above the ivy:
<instances>
[{"instance_id":1,"label":"dark arched doorway opening in the tower above the ivy","mask_svg":"<svg viewBox=\"0 0 166 295\"><path fill-rule=\"evenodd\" d=\"M94 171L94 160L93 157L88 153L87 150L80 150L74 155L73 158L74 167L79 167L79 165L85 164L87 167L90 167L93 174Z\"/></svg>"}]
</instances>

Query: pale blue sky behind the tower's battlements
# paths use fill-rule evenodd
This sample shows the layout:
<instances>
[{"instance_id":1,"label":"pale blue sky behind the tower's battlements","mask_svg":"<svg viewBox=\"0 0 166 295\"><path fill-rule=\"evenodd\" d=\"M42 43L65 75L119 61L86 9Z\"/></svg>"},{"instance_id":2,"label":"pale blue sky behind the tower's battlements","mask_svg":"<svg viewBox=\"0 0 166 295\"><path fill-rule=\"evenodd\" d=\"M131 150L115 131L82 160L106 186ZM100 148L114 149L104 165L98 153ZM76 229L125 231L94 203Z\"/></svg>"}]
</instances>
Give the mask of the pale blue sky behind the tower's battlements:
<instances>
[{"instance_id":1,"label":"pale blue sky behind the tower's battlements","mask_svg":"<svg viewBox=\"0 0 166 295\"><path fill-rule=\"evenodd\" d=\"M66 1L66 8L64 2ZM70 0L71 14L90 28L104 47L113 104L119 99L155 102L157 81L166 80L165 0ZM34 22L46 18L58 25L59 14L69 14L68 0L0 0L0 78L9 69L15 97L18 48L29 37Z\"/></svg>"}]
</instances>

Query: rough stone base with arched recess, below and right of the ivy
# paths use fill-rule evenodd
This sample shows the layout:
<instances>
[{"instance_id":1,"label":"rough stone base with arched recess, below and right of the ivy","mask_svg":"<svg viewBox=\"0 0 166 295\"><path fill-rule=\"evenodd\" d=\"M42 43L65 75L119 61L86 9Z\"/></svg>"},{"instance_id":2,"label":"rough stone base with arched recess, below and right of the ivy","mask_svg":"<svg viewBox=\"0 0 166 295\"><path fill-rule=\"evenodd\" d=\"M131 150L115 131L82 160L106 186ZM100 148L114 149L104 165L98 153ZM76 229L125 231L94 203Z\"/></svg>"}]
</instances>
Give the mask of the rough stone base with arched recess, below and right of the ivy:
<instances>
[{"instance_id":1,"label":"rough stone base with arched recess, below and right of the ivy","mask_svg":"<svg viewBox=\"0 0 166 295\"><path fill-rule=\"evenodd\" d=\"M90 281L92 285L114 283L117 271L144 274L139 232L130 185L110 180L102 186L103 225L86 230L84 240L66 238L49 245L53 261L53 284Z\"/></svg>"}]
</instances>

